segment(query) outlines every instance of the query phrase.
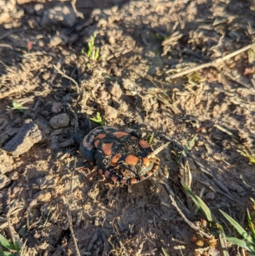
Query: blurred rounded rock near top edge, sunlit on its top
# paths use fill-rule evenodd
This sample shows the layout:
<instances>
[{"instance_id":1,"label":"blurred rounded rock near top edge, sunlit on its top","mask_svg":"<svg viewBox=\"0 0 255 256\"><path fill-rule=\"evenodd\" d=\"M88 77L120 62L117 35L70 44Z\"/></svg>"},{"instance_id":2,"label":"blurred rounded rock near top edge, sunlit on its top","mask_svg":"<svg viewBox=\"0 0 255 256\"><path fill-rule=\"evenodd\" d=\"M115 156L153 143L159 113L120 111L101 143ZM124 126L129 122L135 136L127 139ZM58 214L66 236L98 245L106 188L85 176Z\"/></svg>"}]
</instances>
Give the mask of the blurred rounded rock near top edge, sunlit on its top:
<instances>
[{"instance_id":1,"label":"blurred rounded rock near top edge, sunlit on its top","mask_svg":"<svg viewBox=\"0 0 255 256\"><path fill-rule=\"evenodd\" d=\"M59 5L45 11L41 20L42 27L52 25L73 27L76 23L75 11L71 6Z\"/></svg>"}]
</instances>

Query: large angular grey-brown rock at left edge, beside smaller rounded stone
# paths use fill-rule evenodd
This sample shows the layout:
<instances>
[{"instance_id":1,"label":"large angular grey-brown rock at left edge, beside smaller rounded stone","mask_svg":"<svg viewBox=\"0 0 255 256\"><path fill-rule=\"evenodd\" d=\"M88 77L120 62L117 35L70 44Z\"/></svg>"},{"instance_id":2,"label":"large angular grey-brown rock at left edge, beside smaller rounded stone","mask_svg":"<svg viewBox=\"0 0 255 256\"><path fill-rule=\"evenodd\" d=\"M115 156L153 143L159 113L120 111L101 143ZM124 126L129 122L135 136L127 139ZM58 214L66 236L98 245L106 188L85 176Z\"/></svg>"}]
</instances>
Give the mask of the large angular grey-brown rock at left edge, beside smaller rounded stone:
<instances>
[{"instance_id":1,"label":"large angular grey-brown rock at left edge, beside smaller rounded stone","mask_svg":"<svg viewBox=\"0 0 255 256\"><path fill-rule=\"evenodd\" d=\"M20 154L29 151L35 143L40 142L42 139L43 135L39 130L38 125L31 119L26 119L17 135L15 135L3 149L15 156L19 156Z\"/></svg>"}]
</instances>

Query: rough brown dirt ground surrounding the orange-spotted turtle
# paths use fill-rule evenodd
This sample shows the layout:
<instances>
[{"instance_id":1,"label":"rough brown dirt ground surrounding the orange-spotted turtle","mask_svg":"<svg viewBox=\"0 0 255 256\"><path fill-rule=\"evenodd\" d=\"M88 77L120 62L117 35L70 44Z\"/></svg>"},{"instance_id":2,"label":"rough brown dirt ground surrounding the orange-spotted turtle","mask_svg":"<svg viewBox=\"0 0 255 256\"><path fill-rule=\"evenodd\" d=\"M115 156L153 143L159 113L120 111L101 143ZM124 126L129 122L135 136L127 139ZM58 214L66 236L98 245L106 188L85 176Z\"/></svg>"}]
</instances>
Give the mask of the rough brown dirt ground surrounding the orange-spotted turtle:
<instances>
[{"instance_id":1,"label":"rough brown dirt ground surrounding the orange-spotted turtle","mask_svg":"<svg viewBox=\"0 0 255 256\"><path fill-rule=\"evenodd\" d=\"M87 57L93 34L97 59ZM254 166L237 151L254 150L254 51L171 76L254 39L253 0L0 0L1 234L26 241L24 255L195 255L161 182L201 219L177 161L194 135L191 190L222 225L218 209L242 220L255 192ZM154 149L171 141L161 172L124 186L79 169L75 151L97 112L145 139L154 132Z\"/></svg>"}]
</instances>

